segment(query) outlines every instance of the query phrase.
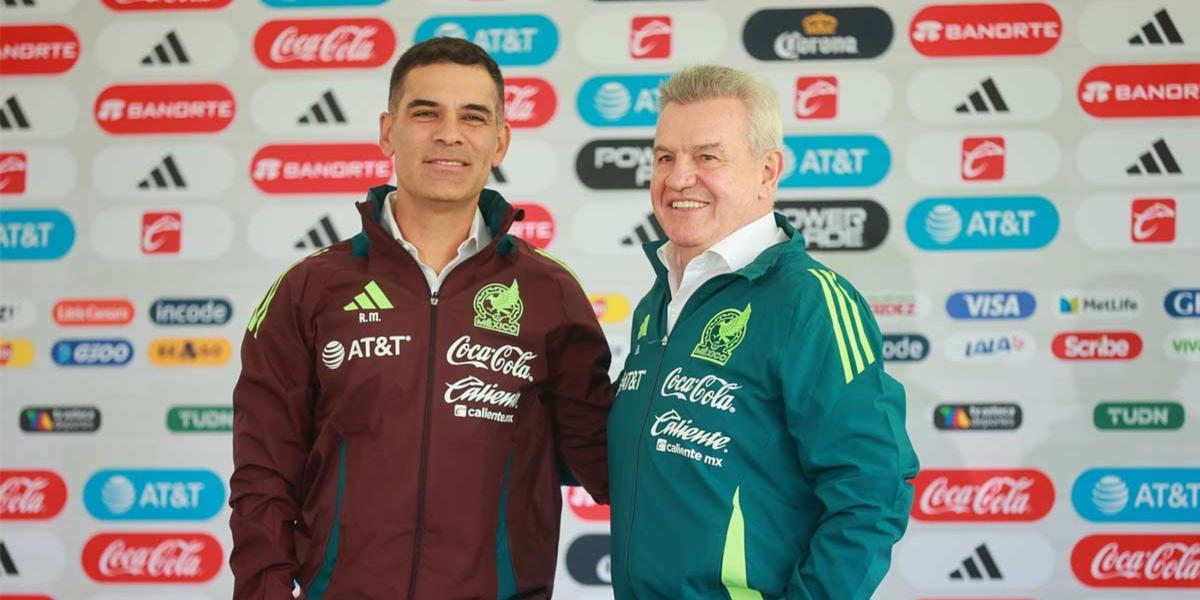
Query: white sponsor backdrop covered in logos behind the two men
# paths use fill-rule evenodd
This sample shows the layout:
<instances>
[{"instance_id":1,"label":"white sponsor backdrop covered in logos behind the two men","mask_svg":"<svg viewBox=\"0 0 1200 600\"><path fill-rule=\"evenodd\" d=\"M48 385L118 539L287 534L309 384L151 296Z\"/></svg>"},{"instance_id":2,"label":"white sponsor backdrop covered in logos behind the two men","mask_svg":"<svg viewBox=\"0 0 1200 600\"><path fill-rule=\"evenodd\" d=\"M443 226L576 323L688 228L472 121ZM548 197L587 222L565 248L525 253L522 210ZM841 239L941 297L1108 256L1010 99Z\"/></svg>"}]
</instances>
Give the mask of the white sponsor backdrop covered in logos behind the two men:
<instances>
[{"instance_id":1,"label":"white sponsor backdrop covered in logos behind the two men","mask_svg":"<svg viewBox=\"0 0 1200 600\"><path fill-rule=\"evenodd\" d=\"M496 188L612 342L655 86L750 68L779 210L868 294L924 472L877 598L1200 589L1200 4L4 0L0 594L227 598L230 389L288 264L389 181L391 62L508 76ZM836 415L856 419L853 412ZM610 598L566 490L560 598Z\"/></svg>"}]
</instances>

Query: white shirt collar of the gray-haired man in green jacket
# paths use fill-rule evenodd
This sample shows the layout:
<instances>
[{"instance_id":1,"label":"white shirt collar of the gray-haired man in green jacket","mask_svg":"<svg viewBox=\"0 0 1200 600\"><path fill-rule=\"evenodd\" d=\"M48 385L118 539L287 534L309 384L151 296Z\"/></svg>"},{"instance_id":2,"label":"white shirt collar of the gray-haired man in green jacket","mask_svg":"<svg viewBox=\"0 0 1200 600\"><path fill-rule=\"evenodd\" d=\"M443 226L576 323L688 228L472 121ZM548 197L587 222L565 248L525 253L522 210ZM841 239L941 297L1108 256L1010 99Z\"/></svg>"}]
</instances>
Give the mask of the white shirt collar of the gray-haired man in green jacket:
<instances>
[{"instance_id":1,"label":"white shirt collar of the gray-haired man in green jacket","mask_svg":"<svg viewBox=\"0 0 1200 600\"><path fill-rule=\"evenodd\" d=\"M768 212L740 229L713 244L700 256L692 258L688 266L679 271L678 250L670 241L659 247L659 262L667 268L667 283L671 286L671 302L667 305L667 335L674 329L679 311L688 299L708 280L718 275L734 272L754 262L764 250L787 241L787 234L775 224L775 214Z\"/></svg>"}]
</instances>

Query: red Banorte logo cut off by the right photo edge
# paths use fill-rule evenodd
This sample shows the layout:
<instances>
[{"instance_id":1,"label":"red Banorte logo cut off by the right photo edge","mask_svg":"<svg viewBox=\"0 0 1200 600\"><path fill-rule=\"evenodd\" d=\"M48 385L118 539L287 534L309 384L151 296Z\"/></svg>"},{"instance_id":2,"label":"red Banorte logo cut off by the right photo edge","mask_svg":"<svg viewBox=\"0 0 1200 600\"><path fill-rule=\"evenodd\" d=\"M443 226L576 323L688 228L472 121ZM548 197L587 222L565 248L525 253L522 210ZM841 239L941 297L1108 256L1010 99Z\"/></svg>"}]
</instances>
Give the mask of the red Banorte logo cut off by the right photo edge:
<instances>
[{"instance_id":1,"label":"red Banorte logo cut off by the right photo edge","mask_svg":"<svg viewBox=\"0 0 1200 600\"><path fill-rule=\"evenodd\" d=\"M1084 73L1078 97L1098 119L1200 116L1200 62L1102 65Z\"/></svg>"}]
</instances>

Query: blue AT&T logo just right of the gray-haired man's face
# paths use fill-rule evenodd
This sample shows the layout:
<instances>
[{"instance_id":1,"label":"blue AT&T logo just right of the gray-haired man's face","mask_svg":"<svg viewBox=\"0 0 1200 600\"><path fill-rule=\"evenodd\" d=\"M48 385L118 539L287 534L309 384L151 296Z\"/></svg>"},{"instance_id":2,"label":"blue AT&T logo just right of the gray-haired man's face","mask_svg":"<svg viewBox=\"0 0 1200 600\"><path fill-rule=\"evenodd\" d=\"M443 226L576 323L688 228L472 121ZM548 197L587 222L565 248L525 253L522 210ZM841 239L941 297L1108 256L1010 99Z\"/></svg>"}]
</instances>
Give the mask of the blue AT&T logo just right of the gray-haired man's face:
<instances>
[{"instance_id":1,"label":"blue AT&T logo just right of the gray-haired man's face","mask_svg":"<svg viewBox=\"0 0 1200 600\"><path fill-rule=\"evenodd\" d=\"M892 151L875 136L785 136L779 187L869 187L892 170Z\"/></svg>"}]
</instances>

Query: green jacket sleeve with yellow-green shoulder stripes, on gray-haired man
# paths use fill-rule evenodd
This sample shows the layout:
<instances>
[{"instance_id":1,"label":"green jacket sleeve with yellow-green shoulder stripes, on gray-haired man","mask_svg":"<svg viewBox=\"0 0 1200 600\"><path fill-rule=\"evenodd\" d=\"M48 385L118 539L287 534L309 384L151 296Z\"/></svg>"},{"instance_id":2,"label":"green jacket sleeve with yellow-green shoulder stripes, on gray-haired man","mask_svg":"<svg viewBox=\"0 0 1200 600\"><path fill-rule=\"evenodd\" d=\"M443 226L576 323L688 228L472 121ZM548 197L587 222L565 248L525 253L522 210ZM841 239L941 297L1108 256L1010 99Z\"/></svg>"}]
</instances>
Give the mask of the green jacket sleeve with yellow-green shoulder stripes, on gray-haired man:
<instances>
[{"instance_id":1,"label":"green jacket sleeve with yellow-green shoulder stripes, on gray-haired man","mask_svg":"<svg viewBox=\"0 0 1200 600\"><path fill-rule=\"evenodd\" d=\"M782 379L788 433L824 514L787 598L866 600L907 527L917 455L905 431L905 391L883 372L869 306L832 271L809 275L821 280L817 300L797 316L806 323L787 341L793 362Z\"/></svg>"}]
</instances>

